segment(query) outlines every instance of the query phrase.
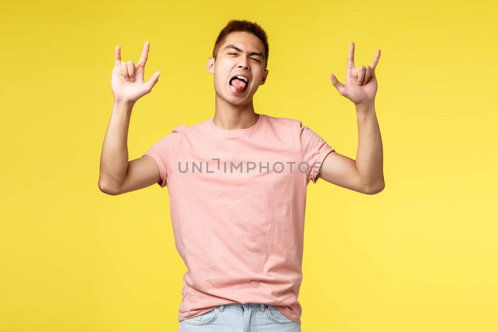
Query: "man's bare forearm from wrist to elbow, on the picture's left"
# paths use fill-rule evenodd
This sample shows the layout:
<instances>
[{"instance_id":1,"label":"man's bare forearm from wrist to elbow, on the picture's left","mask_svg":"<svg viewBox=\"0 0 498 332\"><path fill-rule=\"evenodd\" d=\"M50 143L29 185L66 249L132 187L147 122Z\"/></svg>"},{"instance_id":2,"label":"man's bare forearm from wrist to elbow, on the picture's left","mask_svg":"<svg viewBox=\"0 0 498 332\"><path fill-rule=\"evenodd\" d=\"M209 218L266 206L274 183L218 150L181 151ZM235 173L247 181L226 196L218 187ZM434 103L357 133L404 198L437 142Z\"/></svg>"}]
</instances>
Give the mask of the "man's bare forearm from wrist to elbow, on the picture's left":
<instances>
[{"instance_id":1,"label":"man's bare forearm from wrist to elbow, on the picture's left","mask_svg":"<svg viewBox=\"0 0 498 332\"><path fill-rule=\"evenodd\" d=\"M99 188L112 191L124 181L128 168L128 128L134 103L114 101L100 157Z\"/></svg>"}]
</instances>

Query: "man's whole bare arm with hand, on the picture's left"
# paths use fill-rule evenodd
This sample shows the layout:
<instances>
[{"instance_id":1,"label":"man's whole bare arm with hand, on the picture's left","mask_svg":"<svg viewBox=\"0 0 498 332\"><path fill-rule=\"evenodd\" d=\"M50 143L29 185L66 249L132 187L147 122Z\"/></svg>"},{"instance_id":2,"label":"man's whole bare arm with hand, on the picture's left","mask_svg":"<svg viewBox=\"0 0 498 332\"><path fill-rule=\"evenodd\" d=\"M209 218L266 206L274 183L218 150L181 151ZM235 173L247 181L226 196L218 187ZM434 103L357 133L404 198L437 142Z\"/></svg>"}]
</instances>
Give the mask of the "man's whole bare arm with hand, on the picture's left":
<instances>
[{"instance_id":1,"label":"man's whole bare arm with hand, on the picture's left","mask_svg":"<svg viewBox=\"0 0 498 332\"><path fill-rule=\"evenodd\" d=\"M113 112L104 137L100 158L99 189L109 195L120 195L145 188L161 180L159 168L149 156L128 161L128 128L136 101L148 94L157 82L159 72L144 82L143 74L149 43L135 67L132 61L121 62L121 48L116 47L115 67L111 79L114 93Z\"/></svg>"}]
</instances>

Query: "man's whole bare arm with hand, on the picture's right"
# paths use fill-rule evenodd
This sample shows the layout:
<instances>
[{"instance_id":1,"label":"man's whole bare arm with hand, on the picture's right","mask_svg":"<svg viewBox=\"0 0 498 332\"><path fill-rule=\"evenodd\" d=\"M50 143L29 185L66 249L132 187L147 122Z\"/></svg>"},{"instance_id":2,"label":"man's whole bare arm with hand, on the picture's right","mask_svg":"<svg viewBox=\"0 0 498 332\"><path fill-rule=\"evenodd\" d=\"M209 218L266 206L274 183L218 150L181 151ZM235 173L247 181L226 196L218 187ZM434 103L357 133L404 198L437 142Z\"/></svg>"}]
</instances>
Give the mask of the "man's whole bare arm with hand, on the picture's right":
<instances>
[{"instance_id":1,"label":"man's whole bare arm with hand, on the picture's right","mask_svg":"<svg viewBox=\"0 0 498 332\"><path fill-rule=\"evenodd\" d=\"M364 194L376 194L384 189L383 152L380 129L375 114L374 99L377 92L375 67L380 58L377 50L372 66L355 69L355 44L350 44L346 84L342 84L330 74L332 84L339 93L351 100L356 107L358 118L357 160L335 151L325 157L320 177L327 182Z\"/></svg>"}]
</instances>

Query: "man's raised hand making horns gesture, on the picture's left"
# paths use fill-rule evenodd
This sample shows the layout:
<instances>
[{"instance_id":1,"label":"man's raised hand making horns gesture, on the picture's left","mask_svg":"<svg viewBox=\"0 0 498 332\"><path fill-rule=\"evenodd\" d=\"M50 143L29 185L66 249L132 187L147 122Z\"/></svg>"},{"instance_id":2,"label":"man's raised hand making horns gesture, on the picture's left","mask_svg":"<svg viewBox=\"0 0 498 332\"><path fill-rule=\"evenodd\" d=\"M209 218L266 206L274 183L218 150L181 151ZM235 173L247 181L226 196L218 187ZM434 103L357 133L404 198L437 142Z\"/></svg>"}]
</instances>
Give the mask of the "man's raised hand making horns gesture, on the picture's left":
<instances>
[{"instance_id":1,"label":"man's raised hand making horns gesture, on the picture's left","mask_svg":"<svg viewBox=\"0 0 498 332\"><path fill-rule=\"evenodd\" d=\"M157 83L161 74L159 71L155 72L147 82L143 80L149 45L148 41L143 45L142 55L136 66L133 61L121 62L121 47L116 46L116 63L111 78L111 89L115 101L134 103L148 94Z\"/></svg>"}]
</instances>

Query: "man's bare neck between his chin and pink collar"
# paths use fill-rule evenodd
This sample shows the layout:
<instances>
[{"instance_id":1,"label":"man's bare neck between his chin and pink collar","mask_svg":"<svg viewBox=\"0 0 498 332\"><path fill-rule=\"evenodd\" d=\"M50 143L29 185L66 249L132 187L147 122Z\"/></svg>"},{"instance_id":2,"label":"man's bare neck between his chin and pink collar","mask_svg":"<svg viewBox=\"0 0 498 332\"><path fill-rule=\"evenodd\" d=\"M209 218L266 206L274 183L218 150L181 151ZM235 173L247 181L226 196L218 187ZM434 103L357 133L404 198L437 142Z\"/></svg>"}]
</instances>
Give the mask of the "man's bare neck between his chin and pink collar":
<instances>
[{"instance_id":1,"label":"man's bare neck between his chin and pink collar","mask_svg":"<svg viewBox=\"0 0 498 332\"><path fill-rule=\"evenodd\" d=\"M216 96L216 109L213 123L226 130L246 129L252 127L259 115L254 112L252 100L246 105L233 105Z\"/></svg>"}]
</instances>

